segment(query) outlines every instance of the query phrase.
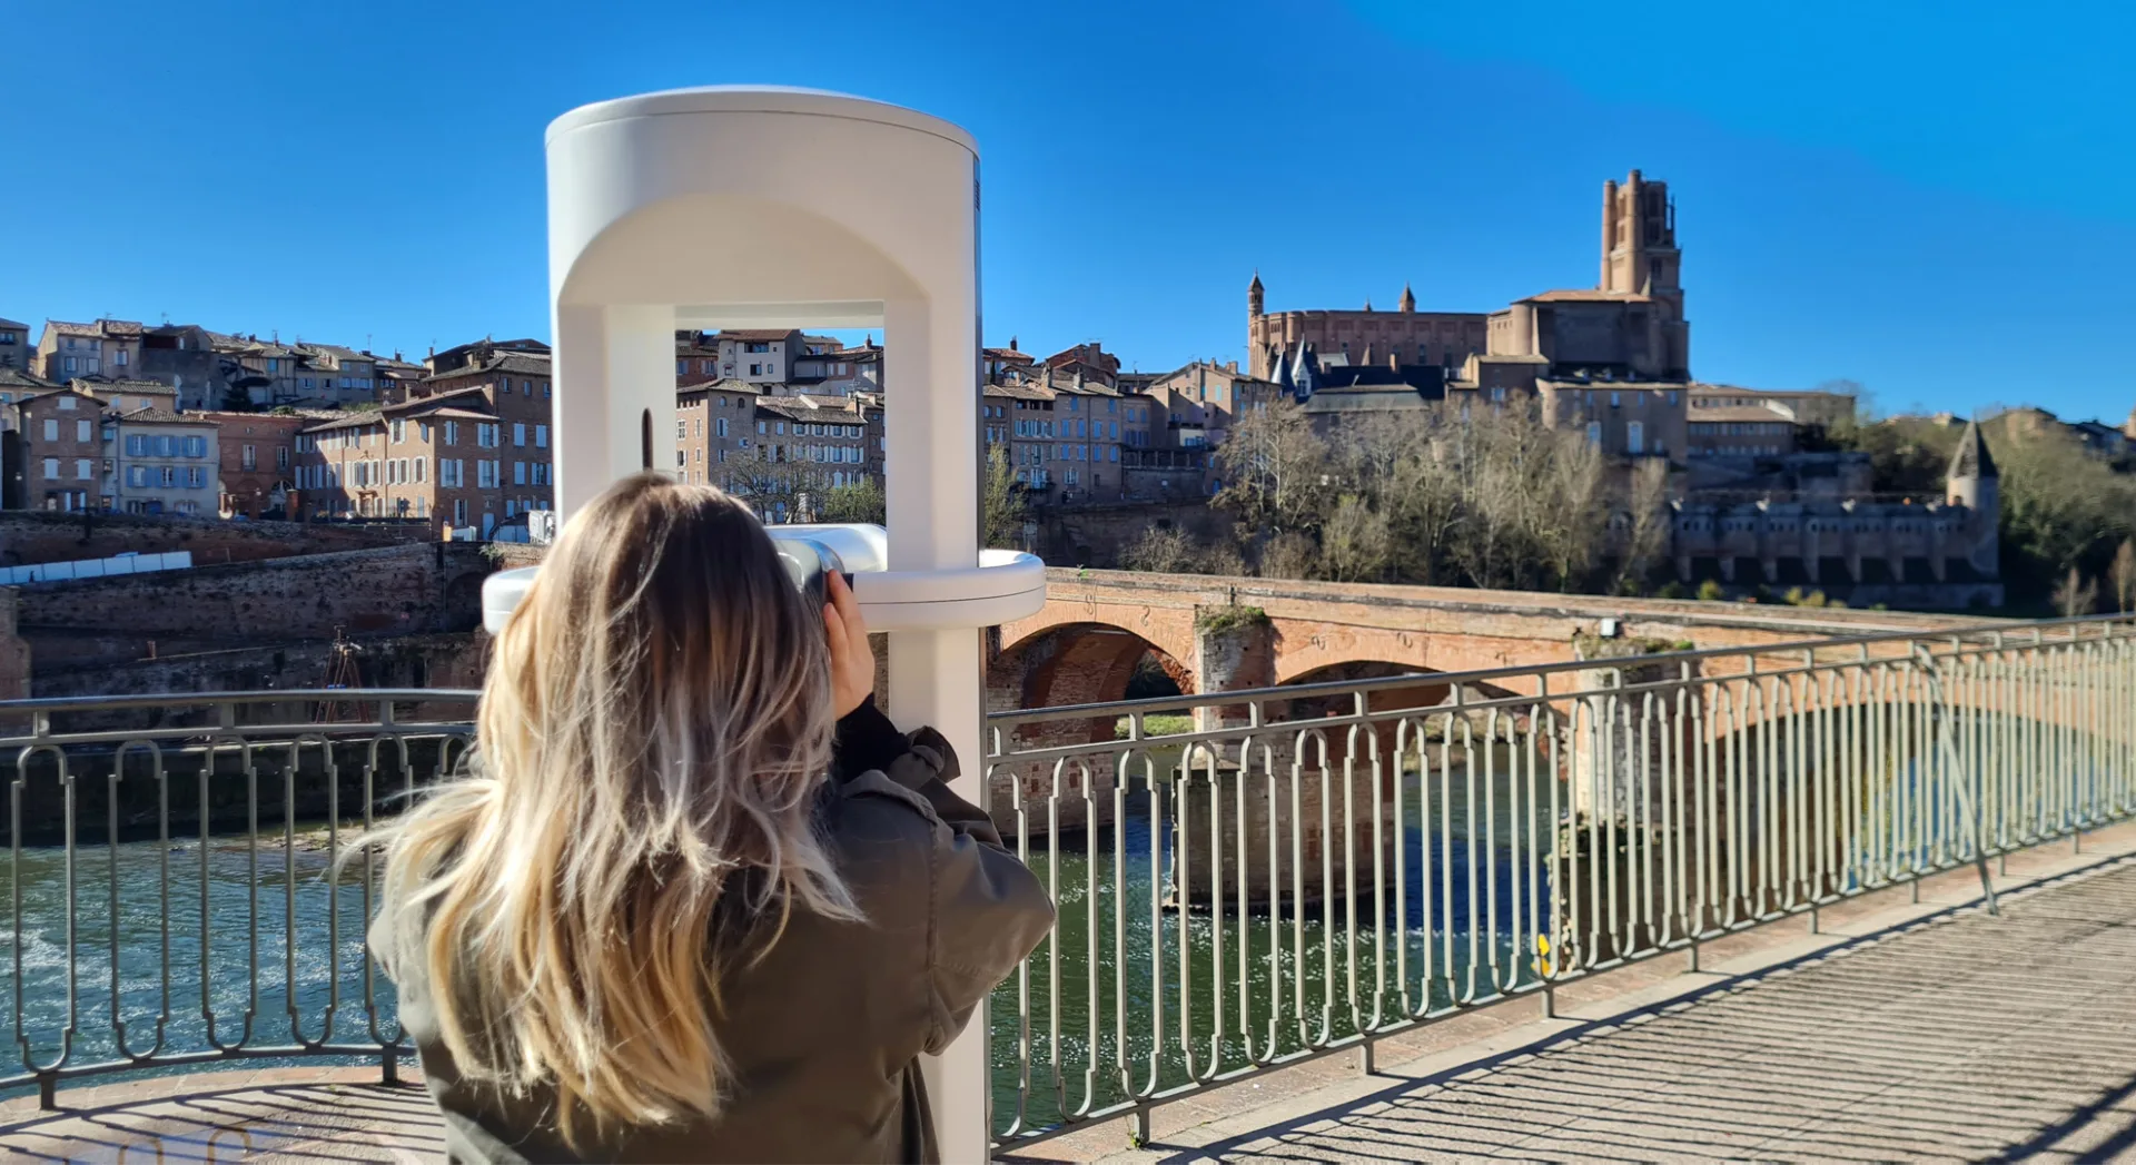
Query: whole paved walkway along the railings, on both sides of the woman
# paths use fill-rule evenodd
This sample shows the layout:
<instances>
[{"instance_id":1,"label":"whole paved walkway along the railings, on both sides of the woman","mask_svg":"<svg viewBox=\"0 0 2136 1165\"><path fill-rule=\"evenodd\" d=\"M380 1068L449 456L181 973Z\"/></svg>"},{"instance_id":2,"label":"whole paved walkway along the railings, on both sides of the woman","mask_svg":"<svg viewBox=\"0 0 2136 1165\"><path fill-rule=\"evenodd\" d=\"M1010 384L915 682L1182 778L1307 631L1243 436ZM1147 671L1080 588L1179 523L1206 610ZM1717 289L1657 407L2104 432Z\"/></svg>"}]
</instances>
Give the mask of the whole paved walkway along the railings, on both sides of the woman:
<instances>
[{"instance_id":1,"label":"whole paved walkway along the railings, on both sides of the woman","mask_svg":"<svg viewBox=\"0 0 2136 1165\"><path fill-rule=\"evenodd\" d=\"M1145 1150L1104 1156L1121 1139L1100 1127L1015 1159L2136 1161L2136 857L2010 894L1999 919L1967 898L1833 911L1826 934L1743 956L1754 968L1709 960L1711 973L1653 975L1632 994L1568 990L1566 1018L1502 1022L1373 1075L1209 1094L1237 1101L1228 1116L1168 1105ZM378 1086L376 1069L177 1075L60 1099L53 1114L0 1105L9 1161L442 1154L423 1090Z\"/></svg>"}]
</instances>

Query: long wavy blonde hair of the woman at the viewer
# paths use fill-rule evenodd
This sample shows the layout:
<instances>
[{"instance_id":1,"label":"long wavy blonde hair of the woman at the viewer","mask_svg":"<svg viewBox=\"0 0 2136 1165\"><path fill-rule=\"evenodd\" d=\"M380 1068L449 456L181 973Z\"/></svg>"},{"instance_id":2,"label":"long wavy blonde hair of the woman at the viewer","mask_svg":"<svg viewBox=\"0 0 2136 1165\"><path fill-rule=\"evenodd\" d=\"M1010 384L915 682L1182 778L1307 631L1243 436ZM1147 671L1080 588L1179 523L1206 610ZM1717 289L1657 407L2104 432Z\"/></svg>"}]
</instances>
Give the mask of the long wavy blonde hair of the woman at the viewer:
<instances>
[{"instance_id":1,"label":"long wavy blonde hair of the woman at the viewer","mask_svg":"<svg viewBox=\"0 0 2136 1165\"><path fill-rule=\"evenodd\" d=\"M814 827L820 611L737 500L641 475L579 511L496 641L472 772L382 838L389 973L470 1082L581 1116L720 1109L718 983L799 902L859 917Z\"/></svg>"}]
</instances>

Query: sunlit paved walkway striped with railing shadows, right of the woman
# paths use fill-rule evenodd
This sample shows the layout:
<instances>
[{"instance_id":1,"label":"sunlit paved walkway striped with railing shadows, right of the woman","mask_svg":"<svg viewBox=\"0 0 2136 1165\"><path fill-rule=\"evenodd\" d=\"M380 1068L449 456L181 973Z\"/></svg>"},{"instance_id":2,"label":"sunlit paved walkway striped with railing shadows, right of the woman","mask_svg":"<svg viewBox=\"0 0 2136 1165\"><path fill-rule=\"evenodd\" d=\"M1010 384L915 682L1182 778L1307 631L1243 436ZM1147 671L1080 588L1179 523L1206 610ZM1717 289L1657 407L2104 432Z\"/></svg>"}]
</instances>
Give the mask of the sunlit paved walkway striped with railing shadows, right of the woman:
<instances>
[{"instance_id":1,"label":"sunlit paved walkway striped with railing shadows, right of the woman","mask_svg":"<svg viewBox=\"0 0 2136 1165\"><path fill-rule=\"evenodd\" d=\"M2136 864L1557 1026L1106 1161L2136 1161Z\"/></svg>"}]
</instances>

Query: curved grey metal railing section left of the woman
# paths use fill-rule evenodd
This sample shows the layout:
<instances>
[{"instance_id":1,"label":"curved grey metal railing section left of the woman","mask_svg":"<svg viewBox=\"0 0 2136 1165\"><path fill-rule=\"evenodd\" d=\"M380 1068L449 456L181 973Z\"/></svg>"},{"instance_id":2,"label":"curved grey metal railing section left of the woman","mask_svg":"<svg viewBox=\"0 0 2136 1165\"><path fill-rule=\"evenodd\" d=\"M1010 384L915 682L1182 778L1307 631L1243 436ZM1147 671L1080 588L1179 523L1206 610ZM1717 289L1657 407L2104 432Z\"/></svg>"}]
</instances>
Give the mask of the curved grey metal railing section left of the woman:
<instances>
[{"instance_id":1,"label":"curved grey metal railing section left of the woman","mask_svg":"<svg viewBox=\"0 0 2136 1165\"><path fill-rule=\"evenodd\" d=\"M0 703L13 1071L412 1054L363 947L346 842L449 772L476 693L286 690ZM449 714L449 716L440 716Z\"/></svg>"}]
</instances>

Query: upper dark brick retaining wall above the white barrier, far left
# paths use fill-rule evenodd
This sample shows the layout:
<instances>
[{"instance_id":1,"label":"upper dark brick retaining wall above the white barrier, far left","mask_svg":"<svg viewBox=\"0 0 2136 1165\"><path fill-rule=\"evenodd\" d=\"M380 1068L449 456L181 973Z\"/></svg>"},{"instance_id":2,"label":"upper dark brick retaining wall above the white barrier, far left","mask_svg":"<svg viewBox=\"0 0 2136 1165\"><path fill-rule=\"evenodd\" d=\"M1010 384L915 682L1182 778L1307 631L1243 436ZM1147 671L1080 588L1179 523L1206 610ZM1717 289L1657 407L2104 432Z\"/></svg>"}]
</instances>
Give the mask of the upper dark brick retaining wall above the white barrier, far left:
<instances>
[{"instance_id":1,"label":"upper dark brick retaining wall above the white barrier, far left","mask_svg":"<svg viewBox=\"0 0 2136 1165\"><path fill-rule=\"evenodd\" d=\"M0 511L0 566L70 562L115 554L190 549L194 564L258 562L293 554L367 549L427 539L425 530L316 526L297 522L218 522L132 513Z\"/></svg>"}]
</instances>

